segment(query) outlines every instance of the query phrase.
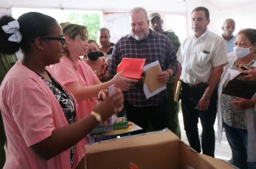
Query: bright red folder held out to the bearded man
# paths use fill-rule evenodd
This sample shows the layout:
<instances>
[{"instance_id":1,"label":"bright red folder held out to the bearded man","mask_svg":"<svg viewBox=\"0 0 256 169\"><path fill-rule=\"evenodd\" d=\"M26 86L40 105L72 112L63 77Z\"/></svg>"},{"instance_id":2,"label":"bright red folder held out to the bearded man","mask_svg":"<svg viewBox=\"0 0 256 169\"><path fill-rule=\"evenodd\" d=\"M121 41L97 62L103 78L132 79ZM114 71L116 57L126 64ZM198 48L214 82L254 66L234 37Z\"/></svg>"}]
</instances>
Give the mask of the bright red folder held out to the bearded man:
<instances>
[{"instance_id":1,"label":"bright red folder held out to the bearded man","mask_svg":"<svg viewBox=\"0 0 256 169\"><path fill-rule=\"evenodd\" d=\"M123 70L122 76L131 79L142 78L143 66L146 59L123 58L117 66L117 73Z\"/></svg>"}]
</instances>

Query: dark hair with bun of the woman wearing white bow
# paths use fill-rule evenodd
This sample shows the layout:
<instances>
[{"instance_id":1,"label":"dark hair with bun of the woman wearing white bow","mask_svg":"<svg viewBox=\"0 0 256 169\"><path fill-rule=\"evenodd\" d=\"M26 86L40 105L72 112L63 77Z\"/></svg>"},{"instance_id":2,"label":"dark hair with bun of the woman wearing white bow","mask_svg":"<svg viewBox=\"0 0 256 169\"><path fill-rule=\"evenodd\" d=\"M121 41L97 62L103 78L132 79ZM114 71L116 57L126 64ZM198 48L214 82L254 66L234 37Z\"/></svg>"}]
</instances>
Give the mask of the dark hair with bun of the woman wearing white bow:
<instances>
[{"instance_id":1,"label":"dark hair with bun of the woman wearing white bow","mask_svg":"<svg viewBox=\"0 0 256 169\"><path fill-rule=\"evenodd\" d=\"M44 37L51 33L52 26L57 21L46 14L30 12L20 16L17 21L19 22L19 31L22 34L22 40L20 43L8 41L8 38L12 34L4 32L2 26L7 25L9 22L15 20L11 16L2 16L0 18L0 53L1 54L14 54L22 49L24 54L28 54L30 51L32 41L37 37Z\"/></svg>"}]
</instances>

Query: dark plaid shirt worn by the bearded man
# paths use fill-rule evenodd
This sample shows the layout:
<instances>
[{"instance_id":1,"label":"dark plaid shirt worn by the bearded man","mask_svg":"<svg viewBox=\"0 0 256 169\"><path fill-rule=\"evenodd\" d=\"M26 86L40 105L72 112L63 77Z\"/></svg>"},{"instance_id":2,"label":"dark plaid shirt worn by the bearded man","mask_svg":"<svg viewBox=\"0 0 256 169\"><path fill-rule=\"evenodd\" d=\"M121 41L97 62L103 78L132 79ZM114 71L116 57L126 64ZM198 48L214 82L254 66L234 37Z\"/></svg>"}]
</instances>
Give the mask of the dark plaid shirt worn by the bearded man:
<instances>
[{"instance_id":1,"label":"dark plaid shirt worn by the bearded man","mask_svg":"<svg viewBox=\"0 0 256 169\"><path fill-rule=\"evenodd\" d=\"M162 70L170 68L174 73L176 73L178 64L169 38L151 31L151 29L149 29L148 37L143 40L138 41L131 37L131 34L128 34L117 41L108 68L110 78L116 75L116 67L122 58L146 58L145 65L158 60ZM125 91L124 94L125 99L136 107L160 105L162 100L167 97L167 91L164 90L146 99L143 88L136 88L135 86L130 87L130 90Z\"/></svg>"}]
</instances>

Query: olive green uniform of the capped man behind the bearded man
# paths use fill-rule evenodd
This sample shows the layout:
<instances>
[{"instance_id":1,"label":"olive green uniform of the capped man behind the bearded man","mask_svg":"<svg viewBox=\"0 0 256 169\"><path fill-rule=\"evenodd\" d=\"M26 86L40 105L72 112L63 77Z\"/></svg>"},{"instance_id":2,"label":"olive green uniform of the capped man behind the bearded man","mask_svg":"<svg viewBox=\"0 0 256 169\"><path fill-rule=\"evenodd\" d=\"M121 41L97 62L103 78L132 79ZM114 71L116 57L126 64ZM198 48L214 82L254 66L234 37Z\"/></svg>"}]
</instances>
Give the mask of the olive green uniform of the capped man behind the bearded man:
<instances>
[{"instance_id":1,"label":"olive green uniform of the capped man behind the bearded man","mask_svg":"<svg viewBox=\"0 0 256 169\"><path fill-rule=\"evenodd\" d=\"M178 36L173 31L164 31L164 35L166 35L170 41L172 41L172 45L174 51L177 52L180 48L180 40ZM167 91L168 91L168 112L169 112L169 126L168 128L174 134L181 138L181 129L178 118L179 105L173 100L173 85L174 85L174 77L170 78L167 83Z\"/></svg>"}]
</instances>

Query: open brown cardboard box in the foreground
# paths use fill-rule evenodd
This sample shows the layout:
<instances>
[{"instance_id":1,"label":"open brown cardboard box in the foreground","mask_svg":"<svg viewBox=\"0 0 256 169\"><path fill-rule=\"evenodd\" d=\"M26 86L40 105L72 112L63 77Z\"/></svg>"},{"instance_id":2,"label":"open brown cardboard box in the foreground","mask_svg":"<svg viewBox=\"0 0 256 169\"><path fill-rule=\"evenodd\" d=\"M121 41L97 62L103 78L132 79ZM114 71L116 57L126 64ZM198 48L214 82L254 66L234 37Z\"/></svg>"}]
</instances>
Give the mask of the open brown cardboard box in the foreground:
<instances>
[{"instance_id":1,"label":"open brown cardboard box in the foreground","mask_svg":"<svg viewBox=\"0 0 256 169\"><path fill-rule=\"evenodd\" d=\"M220 159L202 155L168 130L86 146L87 169L231 169Z\"/></svg>"}]
</instances>

